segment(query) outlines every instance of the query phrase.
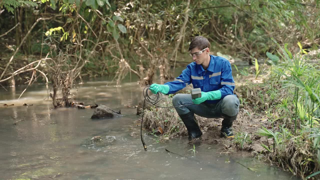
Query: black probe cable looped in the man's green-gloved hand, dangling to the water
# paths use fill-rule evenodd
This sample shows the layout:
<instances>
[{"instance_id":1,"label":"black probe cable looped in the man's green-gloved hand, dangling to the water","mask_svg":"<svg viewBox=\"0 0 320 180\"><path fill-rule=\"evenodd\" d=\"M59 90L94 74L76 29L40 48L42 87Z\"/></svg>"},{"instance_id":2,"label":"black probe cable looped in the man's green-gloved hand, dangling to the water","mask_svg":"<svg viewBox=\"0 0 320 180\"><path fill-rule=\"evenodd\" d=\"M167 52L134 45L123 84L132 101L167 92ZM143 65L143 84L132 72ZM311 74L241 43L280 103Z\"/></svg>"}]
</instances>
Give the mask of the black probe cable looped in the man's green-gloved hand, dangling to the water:
<instances>
[{"instance_id":1,"label":"black probe cable looped in the man's green-gloved hand, dangling to the water","mask_svg":"<svg viewBox=\"0 0 320 180\"><path fill-rule=\"evenodd\" d=\"M143 137L142 137L142 124L143 124L143 114L144 114L144 104L146 103L146 100L148 102L150 102L151 104L156 105L156 103L160 102L162 100L162 93L160 92L157 92L155 98L151 98L149 95L148 95L148 90L150 88L150 85L146 86L144 89L143 89L143 96L144 96L144 102L143 102L143 107L142 107L142 118L141 118L141 128L140 128L140 136L141 136L141 142L142 142L142 145L143 145L143 148L144 148L144 151L148 151L147 149L147 146L146 146L146 143L144 142L143 140ZM174 106L174 107L161 107L161 106L157 106L159 108L176 108L176 107L181 107L181 106L190 106L190 105L193 105L194 103L192 104L186 104L186 105L180 105L180 106Z\"/></svg>"}]
</instances>

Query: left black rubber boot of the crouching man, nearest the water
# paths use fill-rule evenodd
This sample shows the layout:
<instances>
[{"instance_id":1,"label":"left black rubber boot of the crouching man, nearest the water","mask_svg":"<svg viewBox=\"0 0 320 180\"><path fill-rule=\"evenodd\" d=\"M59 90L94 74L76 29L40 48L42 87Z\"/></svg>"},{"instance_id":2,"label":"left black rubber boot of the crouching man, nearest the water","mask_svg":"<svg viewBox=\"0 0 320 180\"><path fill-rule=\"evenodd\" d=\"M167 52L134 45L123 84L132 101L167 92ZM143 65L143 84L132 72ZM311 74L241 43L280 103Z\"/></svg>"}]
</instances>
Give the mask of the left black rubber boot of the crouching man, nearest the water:
<instances>
[{"instance_id":1,"label":"left black rubber boot of the crouching man, nearest the water","mask_svg":"<svg viewBox=\"0 0 320 180\"><path fill-rule=\"evenodd\" d=\"M202 135L202 132L196 122L195 114L188 112L187 114L179 115L184 125L187 127L188 134L191 138L197 138Z\"/></svg>"}]
</instances>

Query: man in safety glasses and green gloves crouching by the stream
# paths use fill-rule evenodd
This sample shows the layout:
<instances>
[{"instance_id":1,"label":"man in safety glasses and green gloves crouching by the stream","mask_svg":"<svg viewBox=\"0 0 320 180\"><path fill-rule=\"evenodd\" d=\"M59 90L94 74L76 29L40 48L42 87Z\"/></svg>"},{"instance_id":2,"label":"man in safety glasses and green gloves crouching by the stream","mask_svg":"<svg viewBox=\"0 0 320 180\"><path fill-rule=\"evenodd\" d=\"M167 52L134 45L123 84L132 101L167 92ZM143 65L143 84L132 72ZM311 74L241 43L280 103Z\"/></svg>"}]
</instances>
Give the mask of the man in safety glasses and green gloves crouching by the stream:
<instances>
[{"instance_id":1,"label":"man in safety glasses and green gloves crouching by the stream","mask_svg":"<svg viewBox=\"0 0 320 180\"><path fill-rule=\"evenodd\" d=\"M233 137L231 127L239 112L239 99L233 94L235 83L231 65L223 57L210 55L210 46L207 38L194 37L189 45L189 54L194 62L188 64L174 81L164 85L152 84L149 89L153 94L173 94L190 83L193 88L201 88L200 98L192 99L191 94L176 94L172 99L173 106L192 104L175 108L187 127L189 137L202 135L194 114L223 118L221 137Z\"/></svg>"}]
</instances>

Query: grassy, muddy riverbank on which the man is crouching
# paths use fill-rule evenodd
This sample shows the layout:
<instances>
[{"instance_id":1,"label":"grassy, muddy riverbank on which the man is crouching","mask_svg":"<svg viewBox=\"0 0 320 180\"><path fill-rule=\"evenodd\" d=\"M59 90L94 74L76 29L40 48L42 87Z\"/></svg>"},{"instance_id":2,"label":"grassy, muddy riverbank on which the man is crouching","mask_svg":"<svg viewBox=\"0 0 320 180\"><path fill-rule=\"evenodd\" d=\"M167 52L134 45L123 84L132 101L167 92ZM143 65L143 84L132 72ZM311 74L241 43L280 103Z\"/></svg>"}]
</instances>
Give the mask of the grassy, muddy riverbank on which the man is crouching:
<instances>
[{"instance_id":1,"label":"grassy, muddy riverbank on which the man is crouching","mask_svg":"<svg viewBox=\"0 0 320 180\"><path fill-rule=\"evenodd\" d=\"M302 178L319 178L319 66L304 63L308 59L300 53L282 53L282 60L270 56L273 67L270 62L260 64L234 77L235 94L241 103L233 125L235 138L220 138L222 119L196 116L204 133L201 141L223 144L225 153L249 151ZM170 103L163 105L172 107ZM172 109L146 110L144 121L158 142L187 135Z\"/></svg>"}]
</instances>

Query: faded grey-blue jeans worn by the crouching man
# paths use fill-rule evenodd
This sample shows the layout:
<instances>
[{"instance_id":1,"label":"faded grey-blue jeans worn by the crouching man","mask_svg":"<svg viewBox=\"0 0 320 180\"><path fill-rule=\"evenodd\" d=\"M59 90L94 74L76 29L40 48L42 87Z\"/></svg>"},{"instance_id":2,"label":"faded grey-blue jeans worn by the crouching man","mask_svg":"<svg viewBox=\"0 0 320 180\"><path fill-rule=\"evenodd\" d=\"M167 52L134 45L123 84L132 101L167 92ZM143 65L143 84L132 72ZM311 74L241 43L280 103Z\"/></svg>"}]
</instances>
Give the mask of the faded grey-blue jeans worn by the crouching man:
<instances>
[{"instance_id":1,"label":"faded grey-blue jeans worn by the crouching man","mask_svg":"<svg viewBox=\"0 0 320 180\"><path fill-rule=\"evenodd\" d=\"M176 94L173 96L173 106L192 104L191 94ZM176 107L179 115L193 112L196 115L205 118L222 118L223 114L227 116L236 116L239 112L239 99L236 95L227 95L216 104L200 103L189 106Z\"/></svg>"}]
</instances>

